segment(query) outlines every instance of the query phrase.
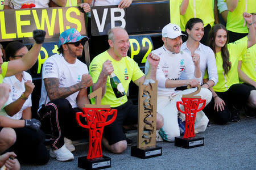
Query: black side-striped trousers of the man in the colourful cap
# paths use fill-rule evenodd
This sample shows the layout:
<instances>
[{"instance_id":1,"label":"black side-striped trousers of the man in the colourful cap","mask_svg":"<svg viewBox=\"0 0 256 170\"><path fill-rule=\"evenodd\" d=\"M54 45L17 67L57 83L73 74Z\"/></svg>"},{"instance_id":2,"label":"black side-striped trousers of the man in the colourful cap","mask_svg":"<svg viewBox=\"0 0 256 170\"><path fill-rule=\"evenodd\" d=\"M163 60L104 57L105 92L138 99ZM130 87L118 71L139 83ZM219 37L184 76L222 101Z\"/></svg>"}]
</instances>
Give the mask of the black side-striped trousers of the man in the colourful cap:
<instances>
[{"instance_id":1,"label":"black side-striped trousers of the man in the colourful cap","mask_svg":"<svg viewBox=\"0 0 256 170\"><path fill-rule=\"evenodd\" d=\"M79 108L72 108L67 99L57 99L43 104L38 112L42 126L51 126L51 147L57 150L64 145L64 137L77 139L78 136L88 137L88 130L76 122L76 112ZM86 124L85 120L81 120Z\"/></svg>"}]
</instances>

